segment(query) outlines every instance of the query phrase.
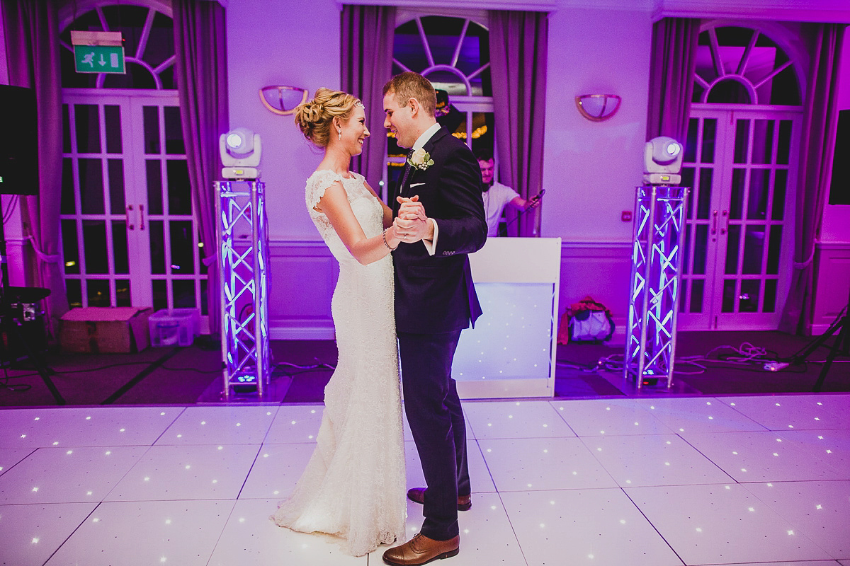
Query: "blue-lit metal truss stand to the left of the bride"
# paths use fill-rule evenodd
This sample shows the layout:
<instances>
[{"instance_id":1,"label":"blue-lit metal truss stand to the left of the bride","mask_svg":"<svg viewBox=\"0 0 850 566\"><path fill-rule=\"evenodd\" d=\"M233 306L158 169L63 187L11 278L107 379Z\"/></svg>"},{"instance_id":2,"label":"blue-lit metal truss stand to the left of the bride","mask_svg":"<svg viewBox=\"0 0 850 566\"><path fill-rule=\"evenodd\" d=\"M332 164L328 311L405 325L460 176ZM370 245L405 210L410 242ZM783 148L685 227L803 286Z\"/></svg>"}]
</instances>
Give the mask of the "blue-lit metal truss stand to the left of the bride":
<instances>
[{"instance_id":1,"label":"blue-lit metal truss stand to the left of the bride","mask_svg":"<svg viewBox=\"0 0 850 566\"><path fill-rule=\"evenodd\" d=\"M263 397L269 385L269 227L265 183L215 182L221 266L224 397Z\"/></svg>"}]
</instances>

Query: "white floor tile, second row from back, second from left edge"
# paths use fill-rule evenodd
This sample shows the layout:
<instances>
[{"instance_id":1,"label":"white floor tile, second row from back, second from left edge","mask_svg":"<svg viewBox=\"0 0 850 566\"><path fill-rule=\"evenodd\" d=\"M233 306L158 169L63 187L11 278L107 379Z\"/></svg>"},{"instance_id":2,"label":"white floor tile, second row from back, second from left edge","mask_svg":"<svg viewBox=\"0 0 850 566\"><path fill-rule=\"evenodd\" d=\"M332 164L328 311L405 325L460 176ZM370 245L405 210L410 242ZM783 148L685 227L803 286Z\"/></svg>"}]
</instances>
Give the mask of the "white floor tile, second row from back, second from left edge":
<instances>
[{"instance_id":1,"label":"white floor tile, second row from back, second from left edge","mask_svg":"<svg viewBox=\"0 0 850 566\"><path fill-rule=\"evenodd\" d=\"M235 499L259 448L151 446L105 501Z\"/></svg>"}]
</instances>

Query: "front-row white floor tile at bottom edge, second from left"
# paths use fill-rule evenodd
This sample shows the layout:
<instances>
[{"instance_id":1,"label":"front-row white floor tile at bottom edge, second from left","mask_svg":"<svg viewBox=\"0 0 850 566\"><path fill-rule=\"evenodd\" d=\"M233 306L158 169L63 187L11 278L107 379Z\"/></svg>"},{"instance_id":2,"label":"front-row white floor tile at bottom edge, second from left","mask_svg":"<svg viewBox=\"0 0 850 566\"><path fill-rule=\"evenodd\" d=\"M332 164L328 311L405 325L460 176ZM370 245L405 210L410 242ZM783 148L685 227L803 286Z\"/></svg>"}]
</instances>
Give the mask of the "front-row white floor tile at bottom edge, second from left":
<instances>
[{"instance_id":1,"label":"front-row white floor tile at bottom edge, second from left","mask_svg":"<svg viewBox=\"0 0 850 566\"><path fill-rule=\"evenodd\" d=\"M204 566L233 506L232 501L103 503L47 566Z\"/></svg>"}]
</instances>

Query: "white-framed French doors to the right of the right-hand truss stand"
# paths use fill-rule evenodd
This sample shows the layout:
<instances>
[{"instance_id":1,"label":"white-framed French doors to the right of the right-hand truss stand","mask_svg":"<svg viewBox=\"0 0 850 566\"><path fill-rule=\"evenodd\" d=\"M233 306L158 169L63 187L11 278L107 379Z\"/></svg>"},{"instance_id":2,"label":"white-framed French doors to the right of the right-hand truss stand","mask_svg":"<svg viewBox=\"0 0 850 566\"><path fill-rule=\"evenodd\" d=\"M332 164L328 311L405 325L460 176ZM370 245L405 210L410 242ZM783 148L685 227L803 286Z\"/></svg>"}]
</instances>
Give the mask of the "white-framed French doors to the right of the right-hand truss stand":
<instances>
[{"instance_id":1,"label":"white-framed French doors to the right of the right-hand truss stand","mask_svg":"<svg viewBox=\"0 0 850 566\"><path fill-rule=\"evenodd\" d=\"M677 327L775 329L791 275L800 112L691 110Z\"/></svg>"}]
</instances>

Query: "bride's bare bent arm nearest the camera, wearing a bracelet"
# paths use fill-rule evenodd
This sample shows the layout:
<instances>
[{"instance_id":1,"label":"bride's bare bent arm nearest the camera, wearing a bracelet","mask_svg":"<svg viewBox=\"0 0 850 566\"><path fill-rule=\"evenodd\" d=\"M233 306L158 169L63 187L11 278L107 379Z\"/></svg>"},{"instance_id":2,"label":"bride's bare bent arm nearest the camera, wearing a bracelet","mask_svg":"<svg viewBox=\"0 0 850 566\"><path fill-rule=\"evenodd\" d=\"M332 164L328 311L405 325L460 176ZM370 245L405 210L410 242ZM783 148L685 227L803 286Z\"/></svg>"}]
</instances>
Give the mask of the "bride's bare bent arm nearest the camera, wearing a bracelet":
<instances>
[{"instance_id":1,"label":"bride's bare bent arm nearest the camera, wearing a bracelet","mask_svg":"<svg viewBox=\"0 0 850 566\"><path fill-rule=\"evenodd\" d=\"M325 189L325 194L319 199L319 205L316 208L327 216L331 226L337 231L339 239L343 241L351 255L354 255L354 259L363 265L385 257L389 254L390 248L395 249L401 242L392 224L382 234L374 238L366 238L363 227L354 216L354 210L351 210L348 195L342 183L338 181ZM386 217L386 211L384 216ZM386 243L384 243L385 239Z\"/></svg>"}]
</instances>

